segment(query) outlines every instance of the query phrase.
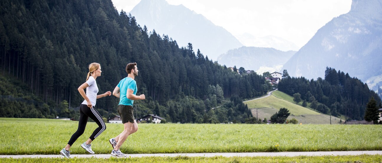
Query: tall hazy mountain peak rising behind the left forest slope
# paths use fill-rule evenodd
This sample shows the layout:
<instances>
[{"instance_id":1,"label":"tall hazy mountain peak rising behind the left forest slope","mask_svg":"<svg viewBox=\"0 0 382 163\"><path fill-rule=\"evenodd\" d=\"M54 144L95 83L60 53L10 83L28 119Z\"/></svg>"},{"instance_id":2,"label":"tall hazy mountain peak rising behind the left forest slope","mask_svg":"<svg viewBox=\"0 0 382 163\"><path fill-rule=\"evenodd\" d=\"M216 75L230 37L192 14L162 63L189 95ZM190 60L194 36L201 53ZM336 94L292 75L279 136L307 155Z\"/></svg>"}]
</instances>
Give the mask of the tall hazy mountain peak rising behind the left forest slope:
<instances>
[{"instance_id":1,"label":"tall hazy mountain peak rising behind the left forest slope","mask_svg":"<svg viewBox=\"0 0 382 163\"><path fill-rule=\"evenodd\" d=\"M141 0L130 14L142 27L153 29L176 40L179 46L192 43L204 56L216 60L220 54L243 46L230 32L216 26L203 15L183 5L170 5L165 0Z\"/></svg>"}]
</instances>

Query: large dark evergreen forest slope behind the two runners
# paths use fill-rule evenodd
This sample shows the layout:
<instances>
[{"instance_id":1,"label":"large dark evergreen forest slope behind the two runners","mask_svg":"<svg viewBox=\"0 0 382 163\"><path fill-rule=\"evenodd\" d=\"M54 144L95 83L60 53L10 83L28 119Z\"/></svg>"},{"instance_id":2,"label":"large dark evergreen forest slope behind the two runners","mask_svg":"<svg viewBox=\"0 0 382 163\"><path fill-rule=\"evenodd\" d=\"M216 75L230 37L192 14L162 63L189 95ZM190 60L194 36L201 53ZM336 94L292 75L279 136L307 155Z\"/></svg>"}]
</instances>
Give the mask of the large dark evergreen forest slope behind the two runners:
<instances>
[{"instance_id":1,"label":"large dark evergreen forest slope behind the two runners","mask_svg":"<svg viewBox=\"0 0 382 163\"><path fill-rule=\"evenodd\" d=\"M199 50L195 54L191 43L179 47L167 35L147 31L125 11L118 13L110 0L3 0L0 16L0 73L25 84L22 90L9 91L7 87L4 90L8 91L1 92L1 117L26 116L12 112L22 107L20 104L34 105L40 112L29 118L78 116L65 107L76 108L83 101L77 88L85 82L91 62L102 67L102 76L97 78L99 93L113 91L127 76L126 64L137 62L137 94L145 94L147 99L137 102L138 117L162 110L157 114L173 122L207 122L203 118L206 114L217 116L223 110L220 115L227 119L217 116L219 122L243 121L251 116L248 110L228 105L231 101L224 103L218 97L221 94L211 94L209 87L219 86L223 98L240 99L261 96L270 88L261 75L237 74ZM33 96L34 102L23 102L27 96ZM216 105L224 106L212 109L215 98ZM202 102L201 106L188 106L185 101L190 99ZM115 97L101 98L97 108L104 110L100 111L102 116L110 117L118 102ZM180 120L180 115L191 116L193 111L197 119Z\"/></svg>"}]
</instances>

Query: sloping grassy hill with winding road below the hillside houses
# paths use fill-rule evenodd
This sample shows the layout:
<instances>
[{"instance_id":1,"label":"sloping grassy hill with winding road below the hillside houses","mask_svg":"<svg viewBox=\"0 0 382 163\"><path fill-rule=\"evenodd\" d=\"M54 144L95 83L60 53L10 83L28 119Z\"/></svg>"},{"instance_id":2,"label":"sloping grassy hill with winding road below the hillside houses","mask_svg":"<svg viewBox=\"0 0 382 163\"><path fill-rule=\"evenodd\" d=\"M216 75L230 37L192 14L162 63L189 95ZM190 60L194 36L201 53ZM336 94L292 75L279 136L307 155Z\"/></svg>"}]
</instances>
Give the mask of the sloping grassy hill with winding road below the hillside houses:
<instances>
[{"instance_id":1,"label":"sloping grassy hill with winding road below the hillside houses","mask_svg":"<svg viewBox=\"0 0 382 163\"><path fill-rule=\"evenodd\" d=\"M303 124L330 124L330 116L312 110L310 107L302 107L300 102L293 102L293 97L281 91L274 91L271 96L262 99L244 102L251 108L252 115L261 119L270 117L278 112L282 107L285 107L291 113L288 119L295 118ZM310 103L308 103L308 106ZM257 113L256 109L258 108ZM344 121L344 120L342 120ZM332 124L340 124L340 118L332 117Z\"/></svg>"}]
</instances>

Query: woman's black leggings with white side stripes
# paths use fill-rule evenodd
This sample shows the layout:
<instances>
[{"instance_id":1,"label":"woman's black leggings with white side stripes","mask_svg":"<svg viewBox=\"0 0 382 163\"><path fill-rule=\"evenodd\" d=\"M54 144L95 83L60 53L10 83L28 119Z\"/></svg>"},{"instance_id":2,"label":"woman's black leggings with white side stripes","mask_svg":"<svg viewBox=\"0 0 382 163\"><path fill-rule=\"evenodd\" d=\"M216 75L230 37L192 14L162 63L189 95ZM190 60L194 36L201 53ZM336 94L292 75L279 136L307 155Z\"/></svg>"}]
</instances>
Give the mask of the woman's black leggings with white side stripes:
<instances>
[{"instance_id":1,"label":"woman's black leggings with white side stripes","mask_svg":"<svg viewBox=\"0 0 382 163\"><path fill-rule=\"evenodd\" d=\"M87 107L87 105L81 104L79 106L79 113L80 113L80 115L79 115L79 121L78 121L78 129L72 135L72 137L70 138L70 140L68 142L68 144L70 146L78 139L79 136L81 136L84 133L87 119L89 117L92 118L92 120L94 120L95 123L97 123L97 125L98 125L98 128L96 128L93 131L93 134L89 137L92 141L97 136L99 136L102 132L104 132L106 129L105 122L102 120L101 115L99 114L99 112L97 110L94 109L94 107L91 109L91 108Z\"/></svg>"}]
</instances>

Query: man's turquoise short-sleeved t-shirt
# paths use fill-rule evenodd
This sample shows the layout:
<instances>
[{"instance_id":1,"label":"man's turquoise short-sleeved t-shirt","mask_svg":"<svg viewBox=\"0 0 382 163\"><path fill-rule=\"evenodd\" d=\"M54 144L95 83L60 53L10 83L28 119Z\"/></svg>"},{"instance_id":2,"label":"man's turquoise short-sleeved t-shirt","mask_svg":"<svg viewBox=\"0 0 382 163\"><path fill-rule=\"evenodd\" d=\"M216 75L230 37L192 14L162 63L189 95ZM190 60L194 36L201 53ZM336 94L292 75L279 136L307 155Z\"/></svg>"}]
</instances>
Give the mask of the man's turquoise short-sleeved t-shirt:
<instances>
[{"instance_id":1,"label":"man's turquoise short-sleeved t-shirt","mask_svg":"<svg viewBox=\"0 0 382 163\"><path fill-rule=\"evenodd\" d=\"M120 103L118 105L130 105L133 106L134 100L128 99L127 89L134 91L134 95L137 93L137 82L130 77L123 78L117 85L120 88Z\"/></svg>"}]
</instances>

